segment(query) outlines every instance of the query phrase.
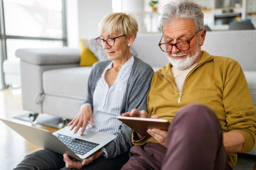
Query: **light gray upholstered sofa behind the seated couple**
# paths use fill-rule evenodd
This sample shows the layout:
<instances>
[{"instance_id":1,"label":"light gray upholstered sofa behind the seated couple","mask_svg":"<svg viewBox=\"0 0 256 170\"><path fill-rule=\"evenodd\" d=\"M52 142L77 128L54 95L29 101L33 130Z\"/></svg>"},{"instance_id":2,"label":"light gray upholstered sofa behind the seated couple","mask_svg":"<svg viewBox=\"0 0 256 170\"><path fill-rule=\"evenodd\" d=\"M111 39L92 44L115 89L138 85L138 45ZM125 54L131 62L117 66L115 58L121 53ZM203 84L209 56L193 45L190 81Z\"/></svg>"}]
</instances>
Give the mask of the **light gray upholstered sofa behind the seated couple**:
<instances>
[{"instance_id":1,"label":"light gray upholstered sofa behind the seated couple","mask_svg":"<svg viewBox=\"0 0 256 170\"><path fill-rule=\"evenodd\" d=\"M137 57L154 70L168 62L166 54L158 47L160 38L161 34L138 35L132 45ZM256 105L255 40L256 30L209 31L202 49L211 55L234 58L241 64ZM79 67L80 50L68 47L19 49L16 57L21 59L23 109L73 119L85 99L91 70L91 67ZM256 149L250 154L256 155Z\"/></svg>"}]
</instances>

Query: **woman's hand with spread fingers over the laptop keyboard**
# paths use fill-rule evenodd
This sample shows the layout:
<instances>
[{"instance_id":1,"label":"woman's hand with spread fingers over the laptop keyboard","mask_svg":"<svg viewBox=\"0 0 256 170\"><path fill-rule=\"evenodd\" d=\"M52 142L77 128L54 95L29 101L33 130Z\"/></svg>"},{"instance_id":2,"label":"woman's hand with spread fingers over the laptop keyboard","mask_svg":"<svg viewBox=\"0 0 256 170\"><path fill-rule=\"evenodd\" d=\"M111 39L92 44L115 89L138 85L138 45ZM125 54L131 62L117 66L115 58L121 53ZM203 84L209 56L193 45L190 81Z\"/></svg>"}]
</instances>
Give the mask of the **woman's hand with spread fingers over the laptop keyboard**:
<instances>
[{"instance_id":1,"label":"woman's hand with spread fingers over the laptop keyboard","mask_svg":"<svg viewBox=\"0 0 256 170\"><path fill-rule=\"evenodd\" d=\"M94 126L92 119L92 108L90 107L90 104L85 104L80 107L78 115L70 123L68 123L68 126L72 125L70 130L73 130L73 128L76 126L74 133L78 132L79 128L82 127L80 133L80 135L82 135L85 132L85 128L89 120L90 124Z\"/></svg>"}]
</instances>

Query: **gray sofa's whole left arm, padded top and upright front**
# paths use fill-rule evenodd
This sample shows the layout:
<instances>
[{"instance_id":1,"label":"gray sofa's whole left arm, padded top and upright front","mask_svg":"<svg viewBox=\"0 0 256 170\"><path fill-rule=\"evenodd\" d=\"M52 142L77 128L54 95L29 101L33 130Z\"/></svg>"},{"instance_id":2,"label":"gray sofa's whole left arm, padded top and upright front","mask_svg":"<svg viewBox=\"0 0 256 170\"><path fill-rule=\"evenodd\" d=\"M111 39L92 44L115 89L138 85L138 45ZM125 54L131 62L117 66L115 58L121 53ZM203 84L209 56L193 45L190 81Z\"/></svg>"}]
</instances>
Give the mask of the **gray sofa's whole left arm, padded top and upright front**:
<instances>
[{"instance_id":1,"label":"gray sofa's whole left arm, padded top and upright front","mask_svg":"<svg viewBox=\"0 0 256 170\"><path fill-rule=\"evenodd\" d=\"M43 72L49 69L79 67L80 49L22 48L16 50L21 59L21 91L24 110L43 113L42 103L37 98L44 94Z\"/></svg>"}]
</instances>

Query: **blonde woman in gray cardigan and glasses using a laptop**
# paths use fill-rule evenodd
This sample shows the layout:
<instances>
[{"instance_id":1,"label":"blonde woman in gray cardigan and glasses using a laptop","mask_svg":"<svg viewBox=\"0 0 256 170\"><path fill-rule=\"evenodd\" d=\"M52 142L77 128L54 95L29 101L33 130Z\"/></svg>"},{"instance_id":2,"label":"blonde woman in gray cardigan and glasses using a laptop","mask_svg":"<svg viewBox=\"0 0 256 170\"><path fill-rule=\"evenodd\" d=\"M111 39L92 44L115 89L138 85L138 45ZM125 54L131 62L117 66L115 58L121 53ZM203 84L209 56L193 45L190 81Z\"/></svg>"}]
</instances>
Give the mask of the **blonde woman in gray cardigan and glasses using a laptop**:
<instances>
[{"instance_id":1,"label":"blonde woman in gray cardigan and glasses using a laptop","mask_svg":"<svg viewBox=\"0 0 256 170\"><path fill-rule=\"evenodd\" d=\"M68 124L74 132L82 128L81 135L90 129L117 137L82 162L43 149L26 156L17 169L121 169L129 159L132 130L116 117L133 108L146 110L146 95L154 73L130 52L137 30L137 21L126 13L110 13L102 19L100 37L95 40L109 60L93 65L85 104Z\"/></svg>"}]
</instances>

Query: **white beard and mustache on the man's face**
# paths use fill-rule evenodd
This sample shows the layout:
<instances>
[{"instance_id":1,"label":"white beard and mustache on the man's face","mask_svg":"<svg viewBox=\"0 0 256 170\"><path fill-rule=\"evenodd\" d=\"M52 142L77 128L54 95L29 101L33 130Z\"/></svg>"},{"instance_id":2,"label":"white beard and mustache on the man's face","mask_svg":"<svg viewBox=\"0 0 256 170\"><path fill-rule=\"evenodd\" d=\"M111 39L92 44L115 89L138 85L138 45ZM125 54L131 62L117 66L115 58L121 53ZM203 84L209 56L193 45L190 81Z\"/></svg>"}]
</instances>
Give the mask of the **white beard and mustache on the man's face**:
<instances>
[{"instance_id":1,"label":"white beard and mustache on the man's face","mask_svg":"<svg viewBox=\"0 0 256 170\"><path fill-rule=\"evenodd\" d=\"M167 58L169 60L169 62L171 63L172 66L174 66L176 69L187 69L188 67L191 67L191 65L194 64L196 58L198 57L200 52L200 48L199 46L196 47L196 53L195 55L188 57L188 54L182 54L182 55L176 55L176 54L172 54L171 57L169 57L167 55ZM186 55L185 59L177 59L175 60L173 57L181 57Z\"/></svg>"}]
</instances>

